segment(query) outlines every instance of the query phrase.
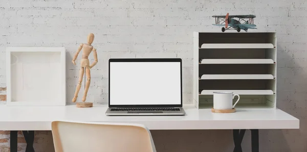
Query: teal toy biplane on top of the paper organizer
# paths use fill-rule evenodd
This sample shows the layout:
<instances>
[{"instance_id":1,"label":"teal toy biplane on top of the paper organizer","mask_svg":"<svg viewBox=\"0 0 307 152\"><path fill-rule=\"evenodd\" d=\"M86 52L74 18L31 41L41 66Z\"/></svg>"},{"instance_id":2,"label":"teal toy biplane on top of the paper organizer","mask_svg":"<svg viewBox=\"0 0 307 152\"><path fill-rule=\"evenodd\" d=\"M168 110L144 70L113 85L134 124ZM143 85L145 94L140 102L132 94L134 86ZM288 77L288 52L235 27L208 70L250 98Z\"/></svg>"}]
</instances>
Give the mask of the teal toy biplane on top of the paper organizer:
<instances>
[{"instance_id":1,"label":"teal toy biplane on top of the paper organizer","mask_svg":"<svg viewBox=\"0 0 307 152\"><path fill-rule=\"evenodd\" d=\"M223 27L222 32L226 30L236 30L238 32L244 30L247 32L248 29L257 29L254 24L255 15L229 15L229 13L227 13L226 16L214 15L212 17L215 17L215 24L213 24L213 26Z\"/></svg>"}]
</instances>

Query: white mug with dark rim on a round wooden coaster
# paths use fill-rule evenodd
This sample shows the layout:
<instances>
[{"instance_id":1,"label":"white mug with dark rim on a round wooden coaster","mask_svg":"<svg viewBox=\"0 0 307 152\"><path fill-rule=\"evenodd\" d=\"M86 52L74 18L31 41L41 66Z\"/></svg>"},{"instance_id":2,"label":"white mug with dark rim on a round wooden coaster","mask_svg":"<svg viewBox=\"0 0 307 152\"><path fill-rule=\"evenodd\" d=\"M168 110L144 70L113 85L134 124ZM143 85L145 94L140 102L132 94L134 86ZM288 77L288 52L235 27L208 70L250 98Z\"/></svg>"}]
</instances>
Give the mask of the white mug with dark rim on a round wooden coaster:
<instances>
[{"instance_id":1,"label":"white mug with dark rim on a round wooden coaster","mask_svg":"<svg viewBox=\"0 0 307 152\"><path fill-rule=\"evenodd\" d=\"M232 100L238 96L237 101L232 105ZM240 96L233 92L213 92L213 108L214 109L233 109L238 103Z\"/></svg>"}]
</instances>

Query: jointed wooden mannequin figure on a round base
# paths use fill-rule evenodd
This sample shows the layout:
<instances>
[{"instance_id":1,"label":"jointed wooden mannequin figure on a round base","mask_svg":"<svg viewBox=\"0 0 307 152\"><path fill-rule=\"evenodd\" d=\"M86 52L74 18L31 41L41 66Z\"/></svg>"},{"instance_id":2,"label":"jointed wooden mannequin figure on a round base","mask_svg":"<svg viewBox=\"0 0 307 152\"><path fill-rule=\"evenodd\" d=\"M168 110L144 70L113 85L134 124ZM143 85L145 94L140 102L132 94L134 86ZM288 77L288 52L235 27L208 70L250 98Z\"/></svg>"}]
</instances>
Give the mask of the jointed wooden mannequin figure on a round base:
<instances>
[{"instance_id":1,"label":"jointed wooden mannequin figure on a round base","mask_svg":"<svg viewBox=\"0 0 307 152\"><path fill-rule=\"evenodd\" d=\"M78 85L76 88L76 92L75 92L75 96L72 99L72 102L75 103L78 97L78 93L80 91L81 88L81 83L82 83L82 79L83 79L83 74L84 74L84 68L85 68L85 74L87 77L86 83L85 83L85 89L84 89L84 95L82 97L82 102L83 103L77 103L77 107L93 107L93 103L85 103L86 100L86 96L87 96L87 91L89 91L90 88L90 84L91 84L91 68L93 66L95 66L98 62L97 59L97 52L96 49L92 46L92 43L94 41L94 34L90 33L89 36L87 36L87 43L86 44L80 44L74 58L73 58L73 64L76 65L76 59L82 50L82 59L81 59L81 69L79 71L79 81L78 81ZM89 55L91 54L91 52L93 52L94 55L94 62L90 65L90 61L89 61Z\"/></svg>"}]
</instances>

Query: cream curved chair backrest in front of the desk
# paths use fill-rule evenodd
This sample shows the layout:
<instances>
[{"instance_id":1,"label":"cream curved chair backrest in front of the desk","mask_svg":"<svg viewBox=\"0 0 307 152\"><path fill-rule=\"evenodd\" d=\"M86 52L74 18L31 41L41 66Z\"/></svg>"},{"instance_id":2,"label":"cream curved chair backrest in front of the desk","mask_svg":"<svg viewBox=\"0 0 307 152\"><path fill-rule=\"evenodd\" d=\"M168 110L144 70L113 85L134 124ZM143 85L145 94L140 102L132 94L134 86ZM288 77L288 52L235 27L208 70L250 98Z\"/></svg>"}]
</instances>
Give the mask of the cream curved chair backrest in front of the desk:
<instances>
[{"instance_id":1,"label":"cream curved chair backrest in front of the desk","mask_svg":"<svg viewBox=\"0 0 307 152\"><path fill-rule=\"evenodd\" d=\"M56 152L156 152L145 125L53 121Z\"/></svg>"}]
</instances>

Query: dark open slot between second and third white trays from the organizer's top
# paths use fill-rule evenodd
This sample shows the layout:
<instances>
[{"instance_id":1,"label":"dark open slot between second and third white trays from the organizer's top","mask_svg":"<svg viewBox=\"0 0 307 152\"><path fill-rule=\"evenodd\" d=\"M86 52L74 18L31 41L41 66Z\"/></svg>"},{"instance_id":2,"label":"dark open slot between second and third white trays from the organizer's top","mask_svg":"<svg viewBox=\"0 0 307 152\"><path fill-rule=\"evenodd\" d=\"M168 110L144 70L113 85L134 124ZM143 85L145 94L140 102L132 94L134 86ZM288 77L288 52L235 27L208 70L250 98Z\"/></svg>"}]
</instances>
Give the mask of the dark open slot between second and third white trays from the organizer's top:
<instances>
[{"instance_id":1,"label":"dark open slot between second and third white trays from the organizer's top","mask_svg":"<svg viewBox=\"0 0 307 152\"><path fill-rule=\"evenodd\" d=\"M203 74L272 74L276 64L199 64L199 78Z\"/></svg>"}]
</instances>

